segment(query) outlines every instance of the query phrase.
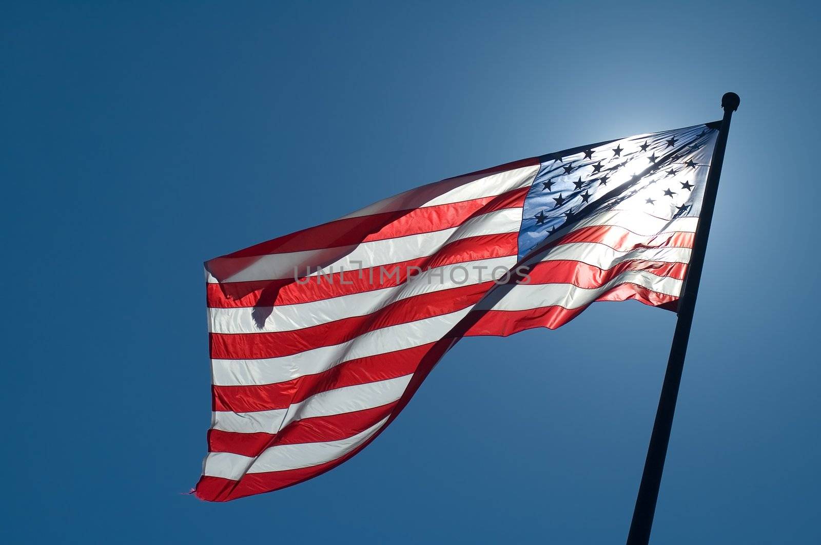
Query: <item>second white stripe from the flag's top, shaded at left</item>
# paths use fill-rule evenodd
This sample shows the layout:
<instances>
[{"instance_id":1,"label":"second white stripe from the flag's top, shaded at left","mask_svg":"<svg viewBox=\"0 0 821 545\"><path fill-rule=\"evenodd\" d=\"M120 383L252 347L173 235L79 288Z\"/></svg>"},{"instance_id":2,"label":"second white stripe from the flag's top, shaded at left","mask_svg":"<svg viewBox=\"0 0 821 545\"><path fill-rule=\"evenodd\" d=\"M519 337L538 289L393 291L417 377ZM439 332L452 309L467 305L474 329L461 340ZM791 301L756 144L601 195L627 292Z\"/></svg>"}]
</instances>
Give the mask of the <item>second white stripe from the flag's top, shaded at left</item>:
<instances>
[{"instance_id":1,"label":"second white stripe from the flag's top, shaded at left","mask_svg":"<svg viewBox=\"0 0 821 545\"><path fill-rule=\"evenodd\" d=\"M261 256L257 261L228 278L227 282L294 278L305 270L321 270L314 275L340 270L359 270L363 267L389 265L400 261L433 254L447 243L484 234L514 233L521 225L521 208L505 208L467 220L458 227L386 238L337 248L305 252L276 253ZM209 282L215 283L209 275Z\"/></svg>"}]
</instances>

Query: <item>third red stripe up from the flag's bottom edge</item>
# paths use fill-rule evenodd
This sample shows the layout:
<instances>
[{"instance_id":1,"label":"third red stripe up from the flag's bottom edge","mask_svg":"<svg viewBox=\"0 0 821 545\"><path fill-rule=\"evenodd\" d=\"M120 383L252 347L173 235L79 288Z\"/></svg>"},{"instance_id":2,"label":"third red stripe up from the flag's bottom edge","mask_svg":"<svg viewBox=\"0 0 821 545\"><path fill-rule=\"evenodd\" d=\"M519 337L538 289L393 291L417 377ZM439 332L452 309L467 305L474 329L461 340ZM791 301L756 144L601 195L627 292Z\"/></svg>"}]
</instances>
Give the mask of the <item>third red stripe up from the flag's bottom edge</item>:
<instances>
[{"instance_id":1,"label":"third red stripe up from the flag's bottom edge","mask_svg":"<svg viewBox=\"0 0 821 545\"><path fill-rule=\"evenodd\" d=\"M315 393L344 386L395 379L413 373L433 343L345 361L332 369L262 386L212 386L214 411L253 412L283 409Z\"/></svg>"}]
</instances>

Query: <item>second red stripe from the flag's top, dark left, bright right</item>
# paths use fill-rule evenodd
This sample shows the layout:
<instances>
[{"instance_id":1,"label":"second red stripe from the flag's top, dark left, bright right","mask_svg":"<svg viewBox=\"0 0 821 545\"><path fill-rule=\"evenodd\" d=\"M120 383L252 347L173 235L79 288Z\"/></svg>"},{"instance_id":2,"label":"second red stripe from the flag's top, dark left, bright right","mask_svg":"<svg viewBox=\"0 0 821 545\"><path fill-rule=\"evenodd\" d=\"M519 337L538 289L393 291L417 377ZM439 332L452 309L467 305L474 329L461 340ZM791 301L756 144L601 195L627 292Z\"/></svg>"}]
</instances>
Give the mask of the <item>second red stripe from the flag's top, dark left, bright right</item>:
<instances>
[{"instance_id":1,"label":"second red stripe from the flag's top, dark left, bright right","mask_svg":"<svg viewBox=\"0 0 821 545\"><path fill-rule=\"evenodd\" d=\"M518 188L493 197L475 198L433 207L343 218L255 244L226 256L216 257L207 261L205 268L214 278L227 279L250 266L260 256L355 246L368 241L450 229L465 223L474 216L506 208L522 207L529 189L529 187Z\"/></svg>"}]
</instances>

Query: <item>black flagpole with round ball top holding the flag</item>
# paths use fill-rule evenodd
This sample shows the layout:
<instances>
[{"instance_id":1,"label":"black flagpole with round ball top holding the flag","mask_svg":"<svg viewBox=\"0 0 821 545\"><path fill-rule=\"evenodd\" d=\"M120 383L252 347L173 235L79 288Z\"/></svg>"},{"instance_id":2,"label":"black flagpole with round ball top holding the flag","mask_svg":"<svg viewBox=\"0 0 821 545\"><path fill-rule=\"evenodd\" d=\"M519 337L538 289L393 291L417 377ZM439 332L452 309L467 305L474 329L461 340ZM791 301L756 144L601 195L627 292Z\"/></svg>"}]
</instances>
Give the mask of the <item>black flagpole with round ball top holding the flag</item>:
<instances>
[{"instance_id":1,"label":"black flagpole with round ball top holding the flag","mask_svg":"<svg viewBox=\"0 0 821 545\"><path fill-rule=\"evenodd\" d=\"M707 249L710 224L713 222L713 208L715 208L716 194L718 193L718 177L721 175L721 167L724 162L724 149L727 148L727 133L730 132L732 112L736 111L740 102L741 98L736 93L726 93L721 99L724 118L721 122L721 128L718 129L718 139L713 149L713 160L710 161L710 170L704 187L704 202L701 205L701 213L699 214L699 225L695 229L695 242L690 257L690 267L678 303L676 333L672 338L670 358L667 360L667 372L664 375L661 397L658 399L656 420L653 424L653 434L650 435L647 459L644 461L644 473L641 475L639 495L635 498L635 509L630 525L630 534L627 535L627 545L647 545L650 540L650 529L653 527L653 515L656 511L656 500L658 500L658 487L662 482L664 459L667 457L667 443L670 443L672 417L676 412L681 371L684 369L687 341L690 338L690 325L693 323L695 297L699 293L701 268L704 266L704 252Z\"/></svg>"}]
</instances>

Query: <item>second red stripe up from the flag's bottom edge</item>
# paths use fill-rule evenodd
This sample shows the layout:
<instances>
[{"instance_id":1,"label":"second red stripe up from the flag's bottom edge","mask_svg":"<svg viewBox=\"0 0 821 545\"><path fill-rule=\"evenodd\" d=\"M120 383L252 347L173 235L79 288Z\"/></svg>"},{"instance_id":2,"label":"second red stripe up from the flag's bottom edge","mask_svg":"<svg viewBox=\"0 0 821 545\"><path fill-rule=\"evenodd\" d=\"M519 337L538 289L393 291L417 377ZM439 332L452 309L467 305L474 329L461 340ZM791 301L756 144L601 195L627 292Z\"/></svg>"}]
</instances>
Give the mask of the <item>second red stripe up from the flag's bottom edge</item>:
<instances>
[{"instance_id":1,"label":"second red stripe up from the flag's bottom edge","mask_svg":"<svg viewBox=\"0 0 821 545\"><path fill-rule=\"evenodd\" d=\"M419 361L415 361L418 364ZM278 434L238 434L209 429L209 452L233 452L242 456L259 456L266 448L276 445L339 441L360 434L388 416L397 402L345 412L333 416L316 416L291 422Z\"/></svg>"}]
</instances>

